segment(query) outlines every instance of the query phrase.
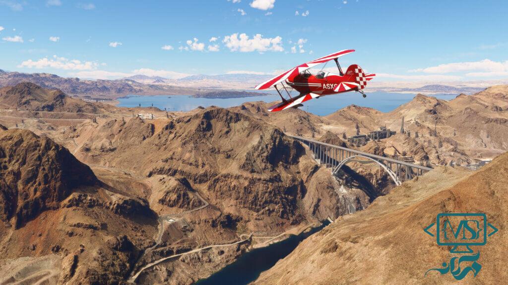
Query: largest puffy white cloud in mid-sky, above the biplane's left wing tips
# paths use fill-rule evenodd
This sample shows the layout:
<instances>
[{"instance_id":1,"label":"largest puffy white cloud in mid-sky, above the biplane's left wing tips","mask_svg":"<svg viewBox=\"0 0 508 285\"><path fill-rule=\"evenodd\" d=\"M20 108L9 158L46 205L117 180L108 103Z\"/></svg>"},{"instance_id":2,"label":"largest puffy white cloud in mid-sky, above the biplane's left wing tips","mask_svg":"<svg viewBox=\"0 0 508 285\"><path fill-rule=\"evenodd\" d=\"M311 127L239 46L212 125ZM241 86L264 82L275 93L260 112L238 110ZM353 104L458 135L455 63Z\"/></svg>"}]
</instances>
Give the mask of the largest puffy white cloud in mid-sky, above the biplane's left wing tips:
<instances>
[{"instance_id":1,"label":"largest puffy white cloud in mid-sky, above the biplane's left wing tips","mask_svg":"<svg viewBox=\"0 0 508 285\"><path fill-rule=\"evenodd\" d=\"M223 43L230 51L240 52L265 52L265 51L283 51L282 38L263 38L263 35L256 34L252 39L245 33L233 33L224 37Z\"/></svg>"}]
</instances>

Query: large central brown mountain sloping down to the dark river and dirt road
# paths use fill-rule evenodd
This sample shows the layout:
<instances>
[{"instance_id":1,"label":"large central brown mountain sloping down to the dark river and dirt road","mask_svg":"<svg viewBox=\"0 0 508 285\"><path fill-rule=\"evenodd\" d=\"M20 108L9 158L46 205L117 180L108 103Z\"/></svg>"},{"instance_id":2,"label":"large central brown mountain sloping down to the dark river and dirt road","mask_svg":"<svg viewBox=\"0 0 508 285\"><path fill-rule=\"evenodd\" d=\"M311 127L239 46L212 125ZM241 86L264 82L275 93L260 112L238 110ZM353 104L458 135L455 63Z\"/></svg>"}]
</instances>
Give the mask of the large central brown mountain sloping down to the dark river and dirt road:
<instances>
[{"instance_id":1,"label":"large central brown mountain sloping down to the dark river and dirt road","mask_svg":"<svg viewBox=\"0 0 508 285\"><path fill-rule=\"evenodd\" d=\"M133 272L173 253L250 233L277 237L303 230L347 213L351 199L359 208L369 203L360 190L338 194L338 182L280 129L232 110L211 107L156 120L99 119L59 137L74 141L75 155L100 170L104 183L135 192L160 221L172 219L161 222L153 249L144 248ZM138 184L138 190L129 186ZM227 248L227 255L192 257L191 265L186 259L164 263L163 271L142 271L138 280L153 283L171 275L176 283L193 283L244 251L233 254ZM202 267L201 259L212 260L215 269Z\"/></svg>"}]
</instances>

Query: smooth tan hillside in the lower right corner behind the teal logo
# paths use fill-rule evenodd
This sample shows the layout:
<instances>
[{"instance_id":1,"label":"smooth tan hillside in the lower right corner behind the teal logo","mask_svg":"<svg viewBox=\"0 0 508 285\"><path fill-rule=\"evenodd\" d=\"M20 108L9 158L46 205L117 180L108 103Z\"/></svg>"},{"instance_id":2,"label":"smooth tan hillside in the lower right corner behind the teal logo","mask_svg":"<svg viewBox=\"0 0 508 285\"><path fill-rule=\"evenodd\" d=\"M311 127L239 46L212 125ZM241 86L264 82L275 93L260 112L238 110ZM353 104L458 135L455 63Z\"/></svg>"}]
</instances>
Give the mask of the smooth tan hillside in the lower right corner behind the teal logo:
<instances>
[{"instance_id":1,"label":"smooth tan hillside in the lower right corner behind the teal logo","mask_svg":"<svg viewBox=\"0 0 508 285\"><path fill-rule=\"evenodd\" d=\"M436 238L423 229L442 212L481 212L496 228L506 228L506 177L508 153L473 173L451 167L434 169L304 240L255 284L280 284L281 280L291 284L456 284L451 273L426 274L429 269L446 267L444 262L456 255L450 253L451 247L437 245ZM481 272L475 277L470 272L461 282L496 284L508 279L501 269L508 261L506 242L507 236L499 231L488 237L487 245L471 246L474 253L481 252L477 261ZM460 271L470 264L461 264Z\"/></svg>"}]
</instances>

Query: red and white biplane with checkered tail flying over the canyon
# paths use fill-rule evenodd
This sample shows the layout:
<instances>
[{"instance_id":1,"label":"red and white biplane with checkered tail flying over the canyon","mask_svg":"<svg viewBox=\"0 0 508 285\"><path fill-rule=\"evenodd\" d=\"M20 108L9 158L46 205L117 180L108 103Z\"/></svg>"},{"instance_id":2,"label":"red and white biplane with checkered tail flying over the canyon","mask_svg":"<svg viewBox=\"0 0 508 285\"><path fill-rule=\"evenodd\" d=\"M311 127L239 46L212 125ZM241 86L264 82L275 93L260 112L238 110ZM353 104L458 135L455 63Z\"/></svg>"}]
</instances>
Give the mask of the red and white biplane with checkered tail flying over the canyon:
<instances>
[{"instance_id":1,"label":"red and white biplane with checkered tail flying over the canyon","mask_svg":"<svg viewBox=\"0 0 508 285\"><path fill-rule=\"evenodd\" d=\"M261 90L274 86L275 90L279 93L280 98L282 98L282 102L271 106L268 109L270 112L282 111L289 108L298 108L303 106L303 102L310 99L347 91L358 91L362 93L363 97L366 97L367 95L365 95L362 89L367 86L367 81L374 78L375 74L365 74L362 68L357 64L350 65L346 72L343 73L339 61L337 60L337 58L354 51L355 50L343 50L300 64L287 72L261 83L256 86L256 89ZM338 75L324 72L323 69L315 75L309 72L309 68L321 63L326 64L326 62L330 60L335 61L335 64L339 69ZM281 87L277 88L277 84L280 84ZM288 88L293 88L300 92L300 94L296 97L291 97ZM289 98L284 98L282 96L280 93L282 89L286 91Z\"/></svg>"}]
</instances>

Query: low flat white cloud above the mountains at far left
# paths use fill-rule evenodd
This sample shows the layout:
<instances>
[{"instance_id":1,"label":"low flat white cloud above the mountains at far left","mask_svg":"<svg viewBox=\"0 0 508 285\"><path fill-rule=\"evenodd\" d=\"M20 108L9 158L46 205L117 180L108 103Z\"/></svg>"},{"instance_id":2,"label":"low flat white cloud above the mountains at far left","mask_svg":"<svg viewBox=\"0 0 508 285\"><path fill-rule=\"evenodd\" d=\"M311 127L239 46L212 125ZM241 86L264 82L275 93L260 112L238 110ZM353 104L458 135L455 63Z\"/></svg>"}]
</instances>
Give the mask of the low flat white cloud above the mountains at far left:
<instances>
[{"instance_id":1,"label":"low flat white cloud above the mountains at far left","mask_svg":"<svg viewBox=\"0 0 508 285\"><path fill-rule=\"evenodd\" d=\"M90 70L96 69L99 66L99 63L92 61L84 61L81 62L77 59L67 59L65 57L57 57L53 55L52 58L41 58L39 60L33 61L31 59L25 60L18 65L18 67L27 67L27 68L54 68L54 69L64 69L64 70Z\"/></svg>"}]
</instances>

